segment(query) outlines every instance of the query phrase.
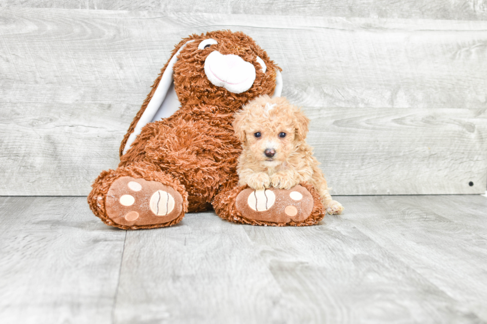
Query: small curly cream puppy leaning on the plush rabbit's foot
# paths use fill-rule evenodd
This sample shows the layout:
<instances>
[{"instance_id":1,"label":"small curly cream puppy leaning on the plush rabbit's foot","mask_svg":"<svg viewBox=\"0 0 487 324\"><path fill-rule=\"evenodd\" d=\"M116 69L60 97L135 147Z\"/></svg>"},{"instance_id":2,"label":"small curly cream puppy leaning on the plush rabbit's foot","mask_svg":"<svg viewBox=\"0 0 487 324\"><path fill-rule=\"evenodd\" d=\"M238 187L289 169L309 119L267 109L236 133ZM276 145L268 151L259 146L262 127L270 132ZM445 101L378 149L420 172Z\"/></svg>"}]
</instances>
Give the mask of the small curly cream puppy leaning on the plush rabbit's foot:
<instances>
[{"instance_id":1,"label":"small curly cream puppy leaning on the plush rabbit's foot","mask_svg":"<svg viewBox=\"0 0 487 324\"><path fill-rule=\"evenodd\" d=\"M313 147L305 141L309 123L286 98L265 95L246 104L233 122L243 147L237 165L239 185L291 189L308 182L320 194L326 212L340 214L343 206L328 193Z\"/></svg>"}]
</instances>

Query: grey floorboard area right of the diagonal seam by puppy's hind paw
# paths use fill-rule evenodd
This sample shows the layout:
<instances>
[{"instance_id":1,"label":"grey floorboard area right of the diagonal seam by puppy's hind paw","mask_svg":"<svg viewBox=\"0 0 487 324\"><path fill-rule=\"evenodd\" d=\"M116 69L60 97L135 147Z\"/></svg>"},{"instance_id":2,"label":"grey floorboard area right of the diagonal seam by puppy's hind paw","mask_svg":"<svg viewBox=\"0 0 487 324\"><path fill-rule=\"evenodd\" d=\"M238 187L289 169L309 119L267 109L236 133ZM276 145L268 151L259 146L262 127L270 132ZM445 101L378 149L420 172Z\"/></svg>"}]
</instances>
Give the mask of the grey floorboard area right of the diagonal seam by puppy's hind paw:
<instances>
[{"instance_id":1,"label":"grey floorboard area right of the diagonal seam by puppy's hind paw","mask_svg":"<svg viewBox=\"0 0 487 324\"><path fill-rule=\"evenodd\" d=\"M341 200L350 207L344 219L487 321L485 197L369 196Z\"/></svg>"}]
</instances>

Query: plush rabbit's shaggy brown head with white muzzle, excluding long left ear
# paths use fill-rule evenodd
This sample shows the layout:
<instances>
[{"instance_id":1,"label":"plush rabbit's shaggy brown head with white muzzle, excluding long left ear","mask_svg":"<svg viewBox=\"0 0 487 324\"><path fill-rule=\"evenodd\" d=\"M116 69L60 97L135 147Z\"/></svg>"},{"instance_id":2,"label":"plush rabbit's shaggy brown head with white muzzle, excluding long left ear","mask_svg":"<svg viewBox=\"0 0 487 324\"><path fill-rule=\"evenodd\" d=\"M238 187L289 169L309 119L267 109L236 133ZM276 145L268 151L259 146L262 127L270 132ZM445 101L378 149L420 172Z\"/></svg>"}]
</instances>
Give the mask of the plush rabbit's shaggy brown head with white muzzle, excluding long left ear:
<instances>
[{"instance_id":1,"label":"plush rabbit's shaggy brown head with white muzzle, excluding long left ear","mask_svg":"<svg viewBox=\"0 0 487 324\"><path fill-rule=\"evenodd\" d=\"M260 95L274 94L279 67L242 32L193 35L176 48L180 52L173 66L174 89L183 105L238 109Z\"/></svg>"}]
</instances>

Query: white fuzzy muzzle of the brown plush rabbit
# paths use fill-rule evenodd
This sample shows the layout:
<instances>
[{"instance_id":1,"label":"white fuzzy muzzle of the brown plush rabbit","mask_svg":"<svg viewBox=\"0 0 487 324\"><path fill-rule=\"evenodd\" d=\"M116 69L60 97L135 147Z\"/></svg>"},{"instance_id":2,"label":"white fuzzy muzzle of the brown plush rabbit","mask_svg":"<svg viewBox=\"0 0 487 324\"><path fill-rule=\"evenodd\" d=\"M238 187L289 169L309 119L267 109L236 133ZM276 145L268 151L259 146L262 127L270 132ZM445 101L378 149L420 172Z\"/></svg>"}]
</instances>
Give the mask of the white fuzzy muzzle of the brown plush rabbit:
<instances>
[{"instance_id":1,"label":"white fuzzy muzzle of the brown plush rabbit","mask_svg":"<svg viewBox=\"0 0 487 324\"><path fill-rule=\"evenodd\" d=\"M205 74L208 80L232 93L250 89L255 81L255 67L238 55L222 55L213 51L205 60Z\"/></svg>"}]
</instances>

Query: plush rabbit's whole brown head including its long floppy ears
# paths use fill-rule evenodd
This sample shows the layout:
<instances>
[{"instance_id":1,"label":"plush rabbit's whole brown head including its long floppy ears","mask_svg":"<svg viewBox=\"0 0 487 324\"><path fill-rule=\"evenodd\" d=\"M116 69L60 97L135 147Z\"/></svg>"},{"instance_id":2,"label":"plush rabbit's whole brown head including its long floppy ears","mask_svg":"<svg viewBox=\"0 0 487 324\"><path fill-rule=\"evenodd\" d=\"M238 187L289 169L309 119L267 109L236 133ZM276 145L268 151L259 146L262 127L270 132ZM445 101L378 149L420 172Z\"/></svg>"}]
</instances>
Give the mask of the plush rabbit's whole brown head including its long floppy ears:
<instances>
[{"instance_id":1,"label":"plush rabbit's whole brown head including its long floppy ears","mask_svg":"<svg viewBox=\"0 0 487 324\"><path fill-rule=\"evenodd\" d=\"M127 152L145 125L168 118L178 109L211 105L236 112L260 95L280 96L280 71L242 32L220 30L183 38L132 121L120 155Z\"/></svg>"}]
</instances>

